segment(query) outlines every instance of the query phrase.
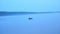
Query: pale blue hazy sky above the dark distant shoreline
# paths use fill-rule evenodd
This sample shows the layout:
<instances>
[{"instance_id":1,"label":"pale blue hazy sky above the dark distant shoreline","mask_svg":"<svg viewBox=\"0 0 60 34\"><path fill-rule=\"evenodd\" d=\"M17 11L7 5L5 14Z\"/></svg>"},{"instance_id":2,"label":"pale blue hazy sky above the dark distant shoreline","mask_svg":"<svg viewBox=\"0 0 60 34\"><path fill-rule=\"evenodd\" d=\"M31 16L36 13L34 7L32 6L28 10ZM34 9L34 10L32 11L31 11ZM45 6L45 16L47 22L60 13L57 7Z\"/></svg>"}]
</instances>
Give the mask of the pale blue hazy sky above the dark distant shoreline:
<instances>
[{"instance_id":1,"label":"pale blue hazy sky above the dark distant shoreline","mask_svg":"<svg viewBox=\"0 0 60 34\"><path fill-rule=\"evenodd\" d=\"M60 0L0 0L0 11L60 11Z\"/></svg>"}]
</instances>

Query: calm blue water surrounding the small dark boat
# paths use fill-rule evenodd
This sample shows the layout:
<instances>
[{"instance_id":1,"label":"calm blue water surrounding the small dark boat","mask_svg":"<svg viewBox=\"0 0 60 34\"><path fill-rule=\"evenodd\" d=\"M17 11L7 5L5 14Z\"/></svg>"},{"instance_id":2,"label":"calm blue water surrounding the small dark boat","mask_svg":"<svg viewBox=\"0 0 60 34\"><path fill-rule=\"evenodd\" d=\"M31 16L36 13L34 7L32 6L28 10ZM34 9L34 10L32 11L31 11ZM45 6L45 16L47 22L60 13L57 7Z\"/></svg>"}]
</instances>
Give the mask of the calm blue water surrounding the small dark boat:
<instances>
[{"instance_id":1,"label":"calm blue water surrounding the small dark boat","mask_svg":"<svg viewBox=\"0 0 60 34\"><path fill-rule=\"evenodd\" d=\"M0 34L60 34L60 13L1 16Z\"/></svg>"}]
</instances>

